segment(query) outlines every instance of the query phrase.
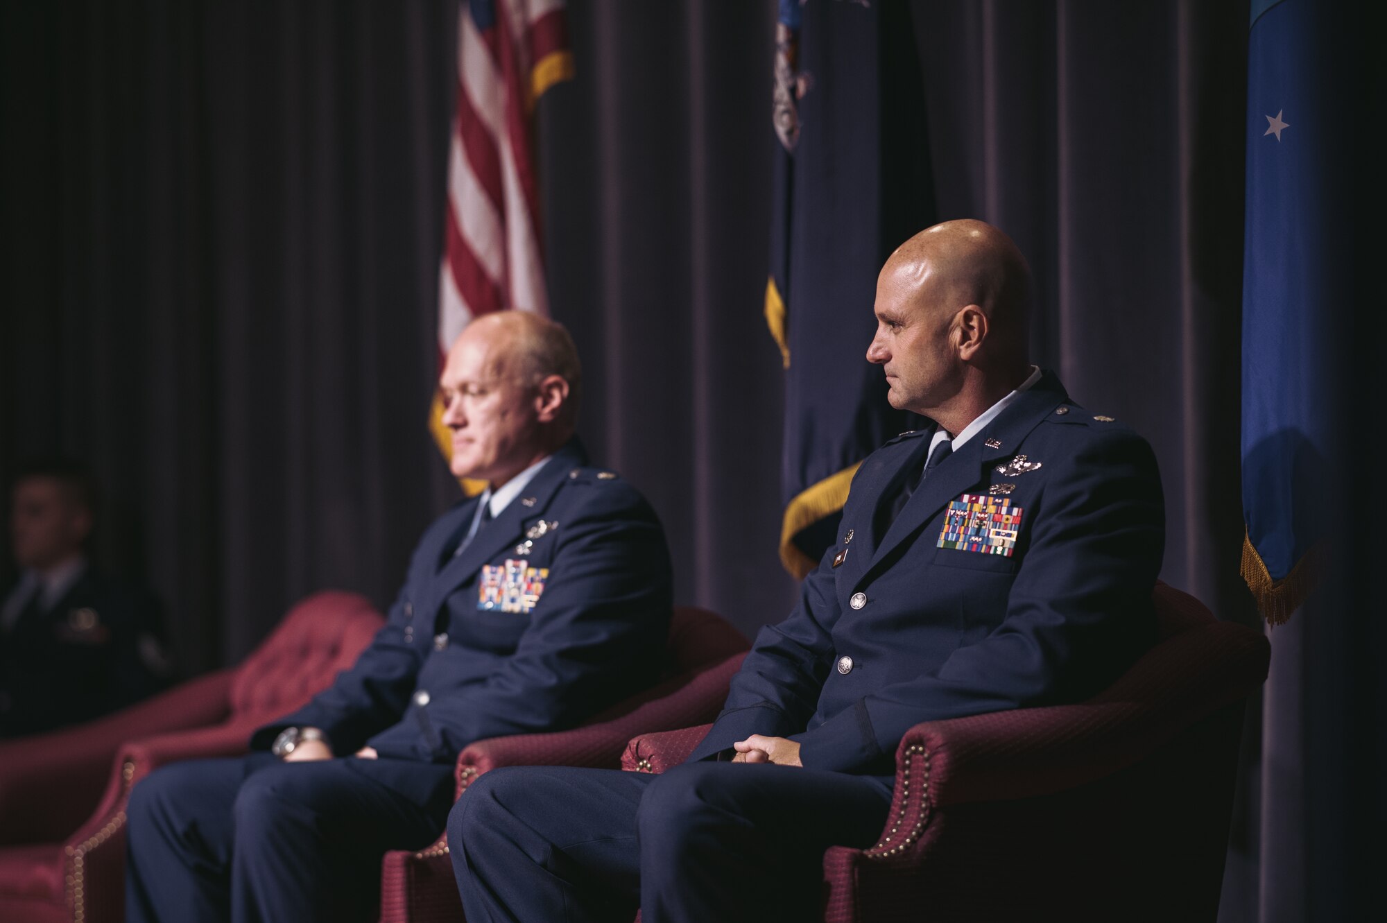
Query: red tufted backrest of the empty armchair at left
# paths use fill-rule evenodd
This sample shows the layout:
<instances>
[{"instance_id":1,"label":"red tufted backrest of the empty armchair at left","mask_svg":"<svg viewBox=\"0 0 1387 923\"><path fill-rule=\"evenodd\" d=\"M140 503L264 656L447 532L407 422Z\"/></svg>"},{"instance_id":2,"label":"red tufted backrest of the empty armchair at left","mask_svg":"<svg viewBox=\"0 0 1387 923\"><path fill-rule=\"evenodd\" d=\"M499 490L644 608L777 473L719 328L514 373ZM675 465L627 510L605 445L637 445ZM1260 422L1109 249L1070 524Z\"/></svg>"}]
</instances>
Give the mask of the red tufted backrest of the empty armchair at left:
<instances>
[{"instance_id":1,"label":"red tufted backrest of the empty armchair at left","mask_svg":"<svg viewBox=\"0 0 1387 923\"><path fill-rule=\"evenodd\" d=\"M379 628L380 615L361 596L309 596L236 671L232 721L273 718L305 704L356 661Z\"/></svg>"}]
</instances>

